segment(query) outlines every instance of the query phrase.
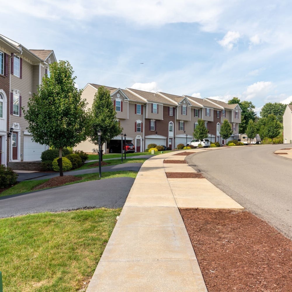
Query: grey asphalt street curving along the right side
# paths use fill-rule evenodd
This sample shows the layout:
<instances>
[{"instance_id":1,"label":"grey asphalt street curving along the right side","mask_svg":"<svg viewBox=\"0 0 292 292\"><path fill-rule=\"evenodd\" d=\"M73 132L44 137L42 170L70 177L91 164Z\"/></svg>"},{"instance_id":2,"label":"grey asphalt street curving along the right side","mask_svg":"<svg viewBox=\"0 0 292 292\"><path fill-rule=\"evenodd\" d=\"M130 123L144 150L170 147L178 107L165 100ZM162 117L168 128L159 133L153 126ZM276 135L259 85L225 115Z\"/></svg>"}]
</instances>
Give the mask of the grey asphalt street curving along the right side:
<instances>
[{"instance_id":1,"label":"grey asphalt street curving along the right side","mask_svg":"<svg viewBox=\"0 0 292 292\"><path fill-rule=\"evenodd\" d=\"M286 147L292 145L212 149L186 160L241 206L292 239L292 159L274 154Z\"/></svg>"}]
</instances>

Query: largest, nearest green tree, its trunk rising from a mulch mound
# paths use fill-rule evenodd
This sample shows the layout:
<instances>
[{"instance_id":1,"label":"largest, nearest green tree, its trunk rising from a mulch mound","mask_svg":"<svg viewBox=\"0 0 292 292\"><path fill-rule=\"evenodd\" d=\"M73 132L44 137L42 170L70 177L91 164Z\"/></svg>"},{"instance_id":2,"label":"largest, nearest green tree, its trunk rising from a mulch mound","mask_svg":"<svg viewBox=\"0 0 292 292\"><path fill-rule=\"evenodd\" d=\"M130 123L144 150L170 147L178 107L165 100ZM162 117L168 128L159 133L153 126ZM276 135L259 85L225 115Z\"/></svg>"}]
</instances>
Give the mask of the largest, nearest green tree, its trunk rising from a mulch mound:
<instances>
[{"instance_id":1,"label":"largest, nearest green tree, its trunk rising from a mulch mound","mask_svg":"<svg viewBox=\"0 0 292 292\"><path fill-rule=\"evenodd\" d=\"M59 149L60 176L63 176L62 148L74 147L87 138L89 128L82 90L75 87L73 69L68 61L50 64L37 94L23 108L32 140Z\"/></svg>"}]
</instances>

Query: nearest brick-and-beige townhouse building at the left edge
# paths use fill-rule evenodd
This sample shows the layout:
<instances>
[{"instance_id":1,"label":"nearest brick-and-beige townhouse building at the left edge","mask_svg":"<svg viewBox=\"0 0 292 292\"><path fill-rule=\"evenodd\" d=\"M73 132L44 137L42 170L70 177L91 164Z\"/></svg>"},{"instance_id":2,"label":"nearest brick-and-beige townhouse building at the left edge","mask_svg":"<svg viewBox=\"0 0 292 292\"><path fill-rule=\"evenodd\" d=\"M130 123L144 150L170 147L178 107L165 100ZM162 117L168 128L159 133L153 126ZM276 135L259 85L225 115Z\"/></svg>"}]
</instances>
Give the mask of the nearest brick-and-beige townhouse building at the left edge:
<instances>
[{"instance_id":1,"label":"nearest brick-and-beige townhouse building at the left edge","mask_svg":"<svg viewBox=\"0 0 292 292\"><path fill-rule=\"evenodd\" d=\"M0 107L6 114L0 121L2 149L1 163L40 160L41 152L48 149L32 140L27 131L28 123L22 114L22 107L27 108L27 102L41 84L45 74L49 74L49 64L55 62L53 50L29 50L6 36L0 35L0 59L4 74L0 74L3 84L0 85ZM0 72L0 73L1 73ZM9 84L9 85L8 85ZM0 114L1 119L1 114Z\"/></svg>"}]
</instances>

